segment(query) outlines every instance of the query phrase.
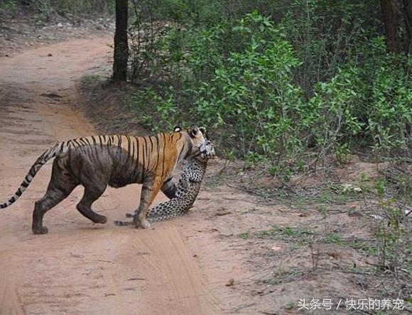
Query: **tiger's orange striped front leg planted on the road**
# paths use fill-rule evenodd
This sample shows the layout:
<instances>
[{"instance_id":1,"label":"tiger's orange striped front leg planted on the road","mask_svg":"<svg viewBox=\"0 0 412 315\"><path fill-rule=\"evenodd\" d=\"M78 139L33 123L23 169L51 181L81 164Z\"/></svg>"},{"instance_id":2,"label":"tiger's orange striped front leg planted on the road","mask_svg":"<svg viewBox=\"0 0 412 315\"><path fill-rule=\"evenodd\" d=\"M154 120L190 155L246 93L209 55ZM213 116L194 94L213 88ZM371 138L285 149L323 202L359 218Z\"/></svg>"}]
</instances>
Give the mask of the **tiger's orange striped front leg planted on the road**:
<instances>
[{"instance_id":1,"label":"tiger's orange striped front leg planted on the road","mask_svg":"<svg viewBox=\"0 0 412 315\"><path fill-rule=\"evenodd\" d=\"M148 179L143 182L141 187L141 197L139 209L134 213L134 226L136 228L150 228L150 223L146 220L146 214L149 206L153 202L153 199L157 196L163 180L161 177L155 177L155 179Z\"/></svg>"}]
</instances>

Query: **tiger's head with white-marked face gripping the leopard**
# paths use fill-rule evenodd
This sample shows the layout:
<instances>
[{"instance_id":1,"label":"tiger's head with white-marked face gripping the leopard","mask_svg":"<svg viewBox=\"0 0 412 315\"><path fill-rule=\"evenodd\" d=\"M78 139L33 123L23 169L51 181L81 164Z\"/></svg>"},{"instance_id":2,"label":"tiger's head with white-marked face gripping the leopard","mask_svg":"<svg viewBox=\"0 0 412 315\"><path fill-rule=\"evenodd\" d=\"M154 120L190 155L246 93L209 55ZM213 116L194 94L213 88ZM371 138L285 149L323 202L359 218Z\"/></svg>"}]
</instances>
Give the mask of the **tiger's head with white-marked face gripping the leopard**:
<instances>
[{"instance_id":1,"label":"tiger's head with white-marked face gripping the leopard","mask_svg":"<svg viewBox=\"0 0 412 315\"><path fill-rule=\"evenodd\" d=\"M195 125L189 128L175 127L174 132L184 133L190 140L191 148L188 157L195 157L200 160L207 160L216 156L215 145L209 140L206 128Z\"/></svg>"}]
</instances>

